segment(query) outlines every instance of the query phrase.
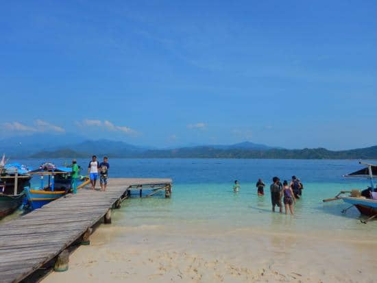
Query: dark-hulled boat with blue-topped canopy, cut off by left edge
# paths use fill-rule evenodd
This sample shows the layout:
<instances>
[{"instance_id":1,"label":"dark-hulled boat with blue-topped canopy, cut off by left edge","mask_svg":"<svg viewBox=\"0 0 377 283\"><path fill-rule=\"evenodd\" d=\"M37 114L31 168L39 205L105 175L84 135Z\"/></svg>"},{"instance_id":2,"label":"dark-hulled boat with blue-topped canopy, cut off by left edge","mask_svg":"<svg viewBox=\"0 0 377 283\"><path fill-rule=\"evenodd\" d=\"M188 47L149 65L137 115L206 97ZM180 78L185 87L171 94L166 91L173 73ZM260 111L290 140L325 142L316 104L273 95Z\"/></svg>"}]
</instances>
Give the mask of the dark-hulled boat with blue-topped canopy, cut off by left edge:
<instances>
[{"instance_id":1,"label":"dark-hulled boat with blue-topped canopy, cut off by left edge","mask_svg":"<svg viewBox=\"0 0 377 283\"><path fill-rule=\"evenodd\" d=\"M31 175L25 165L0 162L0 219L11 214L23 204L26 186L30 186Z\"/></svg>"}]
</instances>

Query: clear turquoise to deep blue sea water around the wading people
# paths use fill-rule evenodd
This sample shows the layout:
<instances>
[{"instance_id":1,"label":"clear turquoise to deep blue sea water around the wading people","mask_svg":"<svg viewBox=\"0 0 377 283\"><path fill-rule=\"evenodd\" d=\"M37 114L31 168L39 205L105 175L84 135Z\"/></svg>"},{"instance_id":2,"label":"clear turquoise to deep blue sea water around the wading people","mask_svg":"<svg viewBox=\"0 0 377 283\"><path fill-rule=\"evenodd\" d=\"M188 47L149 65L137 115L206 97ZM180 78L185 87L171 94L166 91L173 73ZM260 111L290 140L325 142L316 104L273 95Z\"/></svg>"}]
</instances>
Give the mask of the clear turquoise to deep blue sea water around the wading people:
<instances>
[{"instance_id":1,"label":"clear turquoise to deep blue sea water around the wading people","mask_svg":"<svg viewBox=\"0 0 377 283\"><path fill-rule=\"evenodd\" d=\"M14 160L15 161L15 160ZM21 160L36 167L42 160ZM50 161L50 160L49 160ZM52 160L62 165L69 160ZM77 160L84 167L89 160ZM115 217L121 225L196 225L206 227L255 227L282 232L363 232L377 234L377 221L364 225L355 208L342 201L324 204L339 190L366 188L368 180L343 178L361 166L356 160L219 160L219 159L110 159L110 177L171 177L173 195L125 201ZM375 162L377 163L377 162ZM295 206L295 216L271 212L269 184L273 176L304 183L303 197ZM265 196L258 197L255 183L267 184ZM241 190L233 193L239 180ZM38 180L36 180L38 182Z\"/></svg>"}]
</instances>

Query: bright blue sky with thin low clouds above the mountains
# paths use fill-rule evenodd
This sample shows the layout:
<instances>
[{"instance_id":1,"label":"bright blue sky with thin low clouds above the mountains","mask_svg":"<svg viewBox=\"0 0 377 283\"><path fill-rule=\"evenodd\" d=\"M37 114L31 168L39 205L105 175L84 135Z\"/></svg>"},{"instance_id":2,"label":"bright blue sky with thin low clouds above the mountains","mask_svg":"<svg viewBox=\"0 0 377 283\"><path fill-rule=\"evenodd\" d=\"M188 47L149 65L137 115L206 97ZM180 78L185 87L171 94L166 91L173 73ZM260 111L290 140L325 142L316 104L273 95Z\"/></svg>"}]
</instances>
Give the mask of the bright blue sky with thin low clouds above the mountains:
<instances>
[{"instance_id":1,"label":"bright blue sky with thin low clouds above the mountains","mask_svg":"<svg viewBox=\"0 0 377 283\"><path fill-rule=\"evenodd\" d=\"M376 1L8 1L0 134L376 145L376 14Z\"/></svg>"}]
</instances>

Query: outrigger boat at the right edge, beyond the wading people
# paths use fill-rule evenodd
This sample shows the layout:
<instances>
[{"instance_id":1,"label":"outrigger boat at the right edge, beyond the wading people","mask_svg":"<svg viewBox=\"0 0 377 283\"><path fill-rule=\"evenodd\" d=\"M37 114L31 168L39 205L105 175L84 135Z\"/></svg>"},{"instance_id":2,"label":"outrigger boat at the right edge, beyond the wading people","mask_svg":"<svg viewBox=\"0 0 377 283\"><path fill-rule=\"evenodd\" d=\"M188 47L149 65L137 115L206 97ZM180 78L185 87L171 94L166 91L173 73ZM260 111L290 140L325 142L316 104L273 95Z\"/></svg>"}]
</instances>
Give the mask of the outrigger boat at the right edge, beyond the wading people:
<instances>
[{"instance_id":1,"label":"outrigger boat at the right edge, beyond the wading people","mask_svg":"<svg viewBox=\"0 0 377 283\"><path fill-rule=\"evenodd\" d=\"M361 221L367 223L369 220L377 217L377 187L374 186L373 182L373 177L377 177L377 165L363 162L359 163L366 165L367 167L354 173L344 175L343 177L366 177L370 180L370 186L365 190L342 190L336 197L333 197L332 199L324 199L324 202L342 199L346 204L351 205L342 210L343 213L354 206L361 214L369 217L367 220ZM350 193L350 195L345 195L347 193Z\"/></svg>"}]
</instances>

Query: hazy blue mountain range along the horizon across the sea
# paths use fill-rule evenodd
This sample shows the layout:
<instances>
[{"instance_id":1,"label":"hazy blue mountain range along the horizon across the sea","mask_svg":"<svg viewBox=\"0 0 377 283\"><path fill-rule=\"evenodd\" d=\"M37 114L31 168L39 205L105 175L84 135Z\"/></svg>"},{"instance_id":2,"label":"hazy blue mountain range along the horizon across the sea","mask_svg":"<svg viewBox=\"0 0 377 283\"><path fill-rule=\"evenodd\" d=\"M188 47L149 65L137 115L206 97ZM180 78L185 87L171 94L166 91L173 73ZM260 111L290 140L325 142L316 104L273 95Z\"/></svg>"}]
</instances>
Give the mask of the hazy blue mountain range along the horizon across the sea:
<instances>
[{"instance_id":1,"label":"hazy blue mountain range along the horizon across the sea","mask_svg":"<svg viewBox=\"0 0 377 283\"><path fill-rule=\"evenodd\" d=\"M77 141L77 143L74 143ZM0 140L0 153L14 158L266 158L266 159L377 159L377 146L362 149L330 151L317 149L284 149L256 143L202 145L173 149L138 147L114 140L84 140L81 136L38 134Z\"/></svg>"}]
</instances>

